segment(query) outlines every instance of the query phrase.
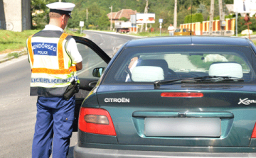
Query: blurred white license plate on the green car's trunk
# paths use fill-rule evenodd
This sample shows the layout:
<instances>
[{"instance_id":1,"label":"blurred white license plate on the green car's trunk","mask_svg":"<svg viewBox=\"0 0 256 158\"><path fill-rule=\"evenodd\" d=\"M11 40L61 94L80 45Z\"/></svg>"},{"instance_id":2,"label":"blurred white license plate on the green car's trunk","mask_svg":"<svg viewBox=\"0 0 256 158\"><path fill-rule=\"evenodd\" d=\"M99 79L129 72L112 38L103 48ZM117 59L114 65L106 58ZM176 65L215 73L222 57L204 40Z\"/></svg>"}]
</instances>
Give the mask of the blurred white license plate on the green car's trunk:
<instances>
[{"instance_id":1,"label":"blurred white license plate on the green car's trunk","mask_svg":"<svg viewBox=\"0 0 256 158\"><path fill-rule=\"evenodd\" d=\"M220 137L220 118L145 118L146 136Z\"/></svg>"}]
</instances>

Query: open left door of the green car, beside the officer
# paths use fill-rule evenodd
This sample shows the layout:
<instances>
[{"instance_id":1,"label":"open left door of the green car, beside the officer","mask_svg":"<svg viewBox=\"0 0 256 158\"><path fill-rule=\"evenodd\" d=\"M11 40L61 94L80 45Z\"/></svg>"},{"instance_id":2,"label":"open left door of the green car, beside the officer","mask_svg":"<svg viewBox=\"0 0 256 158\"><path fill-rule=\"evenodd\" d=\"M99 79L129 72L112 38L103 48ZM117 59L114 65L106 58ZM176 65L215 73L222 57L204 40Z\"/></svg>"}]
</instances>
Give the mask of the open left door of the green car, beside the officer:
<instances>
[{"instance_id":1,"label":"open left door of the green car, beside the officer","mask_svg":"<svg viewBox=\"0 0 256 158\"><path fill-rule=\"evenodd\" d=\"M73 36L73 38L78 45L80 55L82 55L82 70L78 71L80 90L78 94L75 94L75 120L73 124L73 132L77 132L78 117L82 101L95 86L97 80L100 79L93 77L92 71L97 67L107 67L111 58L91 40L77 36Z\"/></svg>"}]
</instances>

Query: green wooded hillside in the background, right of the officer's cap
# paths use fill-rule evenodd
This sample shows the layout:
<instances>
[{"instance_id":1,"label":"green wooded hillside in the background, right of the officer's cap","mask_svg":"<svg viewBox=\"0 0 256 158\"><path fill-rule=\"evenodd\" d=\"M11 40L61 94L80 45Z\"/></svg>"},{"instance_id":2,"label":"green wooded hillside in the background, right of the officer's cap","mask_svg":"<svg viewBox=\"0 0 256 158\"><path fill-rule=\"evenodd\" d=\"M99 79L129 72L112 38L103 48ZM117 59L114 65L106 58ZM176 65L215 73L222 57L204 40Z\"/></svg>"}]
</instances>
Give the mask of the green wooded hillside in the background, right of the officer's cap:
<instances>
[{"instance_id":1,"label":"green wooded hillside in the background, right of the officer's cap","mask_svg":"<svg viewBox=\"0 0 256 158\"><path fill-rule=\"evenodd\" d=\"M73 27L79 26L79 21L87 21L88 26L97 26L99 19L106 19L102 14L110 13L110 6L113 7L113 12L121 9L132 9L139 13L144 13L146 0L66 0L76 4L73 11ZM206 21L210 11L210 0L178 0L177 4L177 25L184 22L186 15L191 13L202 13ZM225 0L223 4L233 4L233 0ZM86 9L88 9L88 18L86 20ZM223 11L228 13L224 7ZM156 13L156 23L152 25L154 28L159 28L158 19L164 19L163 28L167 28L170 23L174 23L174 0L149 0L149 13ZM215 16L219 15L218 0L215 0Z\"/></svg>"}]
</instances>

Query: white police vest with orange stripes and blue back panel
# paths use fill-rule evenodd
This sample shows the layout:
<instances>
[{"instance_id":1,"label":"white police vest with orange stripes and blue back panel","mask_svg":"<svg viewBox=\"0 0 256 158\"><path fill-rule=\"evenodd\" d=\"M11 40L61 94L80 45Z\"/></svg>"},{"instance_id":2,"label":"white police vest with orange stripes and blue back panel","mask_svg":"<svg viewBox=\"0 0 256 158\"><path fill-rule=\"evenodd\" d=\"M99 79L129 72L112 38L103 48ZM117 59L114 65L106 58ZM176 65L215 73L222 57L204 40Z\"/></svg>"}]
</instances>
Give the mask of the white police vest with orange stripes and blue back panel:
<instances>
[{"instance_id":1,"label":"white police vest with orange stripes and blue back panel","mask_svg":"<svg viewBox=\"0 0 256 158\"><path fill-rule=\"evenodd\" d=\"M38 36L29 37L27 42L32 72L31 96L63 96L70 80L78 79L75 64L72 65L65 50L68 34L62 33L60 38Z\"/></svg>"}]
</instances>

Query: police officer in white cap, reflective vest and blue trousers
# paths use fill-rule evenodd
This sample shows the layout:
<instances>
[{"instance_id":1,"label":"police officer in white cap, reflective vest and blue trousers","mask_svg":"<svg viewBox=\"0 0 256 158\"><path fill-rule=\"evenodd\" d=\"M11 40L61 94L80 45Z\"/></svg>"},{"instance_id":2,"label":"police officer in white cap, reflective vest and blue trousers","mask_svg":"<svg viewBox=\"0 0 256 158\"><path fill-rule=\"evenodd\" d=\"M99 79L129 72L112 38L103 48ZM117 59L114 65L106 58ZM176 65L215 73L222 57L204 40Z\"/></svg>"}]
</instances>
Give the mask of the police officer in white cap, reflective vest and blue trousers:
<instances>
[{"instance_id":1,"label":"police officer in white cap, reflective vest and blue trousers","mask_svg":"<svg viewBox=\"0 0 256 158\"><path fill-rule=\"evenodd\" d=\"M27 40L31 65L31 96L38 96L32 157L66 157L73 131L75 95L63 98L70 82L77 81L82 57L75 40L64 33L75 4L46 5L50 22ZM54 135L54 137L53 137Z\"/></svg>"}]
</instances>

